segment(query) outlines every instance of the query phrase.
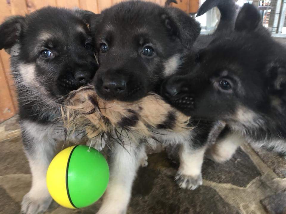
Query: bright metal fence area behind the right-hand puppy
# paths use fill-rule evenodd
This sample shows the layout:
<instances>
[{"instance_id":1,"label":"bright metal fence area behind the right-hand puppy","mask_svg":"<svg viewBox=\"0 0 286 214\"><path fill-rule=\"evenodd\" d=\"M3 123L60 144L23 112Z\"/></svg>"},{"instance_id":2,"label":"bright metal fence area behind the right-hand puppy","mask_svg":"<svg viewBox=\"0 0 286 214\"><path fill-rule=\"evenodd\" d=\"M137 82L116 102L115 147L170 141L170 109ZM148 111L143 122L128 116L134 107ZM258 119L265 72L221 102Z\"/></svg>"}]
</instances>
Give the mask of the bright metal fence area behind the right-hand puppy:
<instances>
[{"instance_id":1,"label":"bright metal fence area behind the right-hand puppy","mask_svg":"<svg viewBox=\"0 0 286 214\"><path fill-rule=\"evenodd\" d=\"M201 0L203 4L205 0ZM286 37L286 0L236 0L240 7L245 3L254 4L262 16L263 26L272 32L273 36ZM215 30L220 20L220 12L213 8L206 14L196 18L202 27L202 33Z\"/></svg>"}]
</instances>

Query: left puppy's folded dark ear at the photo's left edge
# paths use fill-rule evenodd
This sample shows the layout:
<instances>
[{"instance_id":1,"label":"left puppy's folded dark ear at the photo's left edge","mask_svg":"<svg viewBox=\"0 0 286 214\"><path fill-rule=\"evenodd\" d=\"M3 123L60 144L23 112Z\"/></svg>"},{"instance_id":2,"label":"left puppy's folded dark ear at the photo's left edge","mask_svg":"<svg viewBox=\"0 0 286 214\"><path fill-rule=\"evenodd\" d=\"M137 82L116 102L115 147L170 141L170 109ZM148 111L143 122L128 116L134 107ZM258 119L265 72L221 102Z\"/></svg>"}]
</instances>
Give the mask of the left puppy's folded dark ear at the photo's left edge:
<instances>
[{"instance_id":1,"label":"left puppy's folded dark ear at the photo's left edge","mask_svg":"<svg viewBox=\"0 0 286 214\"><path fill-rule=\"evenodd\" d=\"M7 51L18 42L24 19L23 16L11 16L0 25L0 50Z\"/></svg>"}]
</instances>

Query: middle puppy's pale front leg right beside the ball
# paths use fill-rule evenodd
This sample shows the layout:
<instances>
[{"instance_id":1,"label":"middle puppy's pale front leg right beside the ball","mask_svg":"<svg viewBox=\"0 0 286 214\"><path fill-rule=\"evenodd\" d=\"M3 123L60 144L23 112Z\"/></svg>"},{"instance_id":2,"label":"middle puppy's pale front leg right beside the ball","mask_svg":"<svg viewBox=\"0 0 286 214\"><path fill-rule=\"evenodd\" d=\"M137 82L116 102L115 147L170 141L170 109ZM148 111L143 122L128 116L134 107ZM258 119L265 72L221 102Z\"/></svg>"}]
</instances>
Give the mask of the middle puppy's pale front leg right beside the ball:
<instances>
[{"instance_id":1,"label":"middle puppy's pale front leg right beside the ball","mask_svg":"<svg viewBox=\"0 0 286 214\"><path fill-rule=\"evenodd\" d=\"M144 158L145 148L134 144L114 145L110 163L110 180L97 214L125 214L133 180Z\"/></svg>"}]
</instances>

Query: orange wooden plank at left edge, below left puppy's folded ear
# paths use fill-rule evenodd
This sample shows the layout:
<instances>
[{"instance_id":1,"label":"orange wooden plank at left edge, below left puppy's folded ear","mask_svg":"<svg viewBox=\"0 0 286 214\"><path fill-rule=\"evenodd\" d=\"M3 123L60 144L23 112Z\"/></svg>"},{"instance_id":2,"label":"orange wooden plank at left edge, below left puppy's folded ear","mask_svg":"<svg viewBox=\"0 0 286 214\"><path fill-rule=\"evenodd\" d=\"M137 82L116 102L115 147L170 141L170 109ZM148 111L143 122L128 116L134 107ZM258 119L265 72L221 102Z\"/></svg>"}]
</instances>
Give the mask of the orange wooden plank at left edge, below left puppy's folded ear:
<instances>
[{"instance_id":1,"label":"orange wooden plank at left edge, below left puppy's folded ear","mask_svg":"<svg viewBox=\"0 0 286 214\"><path fill-rule=\"evenodd\" d=\"M2 60L0 58L0 123L4 120L9 119L15 115L15 108L12 96L10 94L10 89L8 86L8 81L6 79L6 74L4 72L4 67Z\"/></svg>"}]
</instances>

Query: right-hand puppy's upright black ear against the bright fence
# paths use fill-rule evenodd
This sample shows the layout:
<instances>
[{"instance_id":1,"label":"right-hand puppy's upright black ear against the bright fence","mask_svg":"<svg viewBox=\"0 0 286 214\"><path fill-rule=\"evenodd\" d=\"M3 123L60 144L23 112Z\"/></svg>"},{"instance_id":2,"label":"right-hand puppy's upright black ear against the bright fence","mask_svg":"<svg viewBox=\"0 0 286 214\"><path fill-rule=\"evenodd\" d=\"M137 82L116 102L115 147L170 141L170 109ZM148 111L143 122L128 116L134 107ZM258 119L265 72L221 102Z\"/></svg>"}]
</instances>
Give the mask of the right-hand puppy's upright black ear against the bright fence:
<instances>
[{"instance_id":1,"label":"right-hand puppy's upright black ear against the bright fence","mask_svg":"<svg viewBox=\"0 0 286 214\"><path fill-rule=\"evenodd\" d=\"M244 4L237 15L234 29L236 31L254 31L262 26L261 16L252 4Z\"/></svg>"}]
</instances>

